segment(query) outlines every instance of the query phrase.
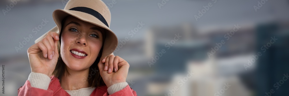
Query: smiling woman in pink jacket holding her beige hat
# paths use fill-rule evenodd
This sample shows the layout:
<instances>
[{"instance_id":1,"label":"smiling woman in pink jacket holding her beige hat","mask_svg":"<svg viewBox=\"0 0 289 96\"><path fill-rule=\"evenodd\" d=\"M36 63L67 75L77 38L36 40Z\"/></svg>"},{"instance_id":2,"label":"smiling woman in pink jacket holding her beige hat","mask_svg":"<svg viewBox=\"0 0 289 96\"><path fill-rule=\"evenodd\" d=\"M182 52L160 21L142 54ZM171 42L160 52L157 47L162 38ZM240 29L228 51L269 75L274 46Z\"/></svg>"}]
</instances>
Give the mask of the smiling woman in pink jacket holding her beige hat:
<instances>
[{"instance_id":1,"label":"smiling woman in pink jacket holding her beige hat","mask_svg":"<svg viewBox=\"0 0 289 96\"><path fill-rule=\"evenodd\" d=\"M117 37L101 0L70 0L55 10L56 27L27 50L31 73L18 95L136 96L127 84L129 64L112 52Z\"/></svg>"}]
</instances>

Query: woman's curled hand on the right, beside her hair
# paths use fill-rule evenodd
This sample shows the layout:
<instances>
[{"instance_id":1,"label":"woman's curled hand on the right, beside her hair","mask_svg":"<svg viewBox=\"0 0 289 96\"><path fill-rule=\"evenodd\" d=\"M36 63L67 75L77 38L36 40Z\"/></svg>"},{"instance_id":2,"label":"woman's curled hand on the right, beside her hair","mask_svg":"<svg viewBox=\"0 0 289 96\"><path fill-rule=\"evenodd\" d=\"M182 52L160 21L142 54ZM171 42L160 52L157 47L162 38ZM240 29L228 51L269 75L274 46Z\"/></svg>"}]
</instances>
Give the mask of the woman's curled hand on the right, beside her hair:
<instances>
[{"instance_id":1,"label":"woman's curled hand on the right, beside her hair","mask_svg":"<svg viewBox=\"0 0 289 96\"><path fill-rule=\"evenodd\" d=\"M116 83L126 82L129 64L121 57L111 54L99 61L98 67L107 87Z\"/></svg>"}]
</instances>

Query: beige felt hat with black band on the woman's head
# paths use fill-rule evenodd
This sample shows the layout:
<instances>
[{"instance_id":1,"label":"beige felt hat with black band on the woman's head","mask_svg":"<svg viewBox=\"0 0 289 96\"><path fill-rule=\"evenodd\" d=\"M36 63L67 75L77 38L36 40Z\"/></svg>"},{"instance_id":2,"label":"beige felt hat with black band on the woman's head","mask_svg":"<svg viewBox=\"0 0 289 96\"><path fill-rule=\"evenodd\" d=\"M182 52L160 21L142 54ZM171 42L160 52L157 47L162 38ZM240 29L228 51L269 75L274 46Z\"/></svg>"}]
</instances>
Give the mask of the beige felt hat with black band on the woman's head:
<instances>
[{"instance_id":1,"label":"beige felt hat with black band on the woman's head","mask_svg":"<svg viewBox=\"0 0 289 96\"><path fill-rule=\"evenodd\" d=\"M109 29L111 15L108 7L103 1L69 0L63 10L54 10L52 16L56 26L49 31L60 34L62 20L69 15L105 29L106 37L103 43L104 45L101 59L108 56L116 49L118 40L114 32ZM35 43L42 40L47 33L36 39Z\"/></svg>"}]
</instances>

